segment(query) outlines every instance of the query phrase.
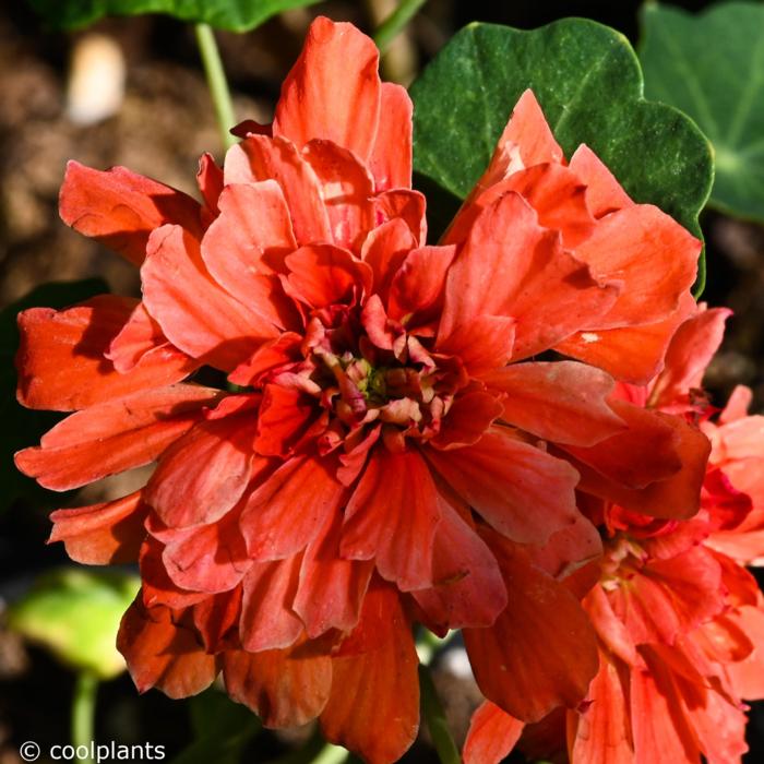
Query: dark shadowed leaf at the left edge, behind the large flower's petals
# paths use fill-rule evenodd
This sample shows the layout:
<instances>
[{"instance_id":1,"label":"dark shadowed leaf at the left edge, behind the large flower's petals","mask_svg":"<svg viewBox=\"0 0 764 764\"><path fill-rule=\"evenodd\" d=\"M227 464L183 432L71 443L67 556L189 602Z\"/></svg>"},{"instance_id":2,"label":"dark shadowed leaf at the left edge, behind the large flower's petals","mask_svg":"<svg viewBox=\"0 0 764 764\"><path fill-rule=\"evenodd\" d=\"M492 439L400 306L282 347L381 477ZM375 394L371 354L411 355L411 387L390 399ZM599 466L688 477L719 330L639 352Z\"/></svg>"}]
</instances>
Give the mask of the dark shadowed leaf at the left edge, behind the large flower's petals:
<instances>
[{"instance_id":1,"label":"dark shadowed leaf at the left edge, behind the large flower's petals","mask_svg":"<svg viewBox=\"0 0 764 764\"><path fill-rule=\"evenodd\" d=\"M19 349L16 315L26 308L38 306L65 308L105 291L108 291L108 286L100 278L44 284L0 311L0 420L3 422L0 430L0 512L21 497L43 504L52 496L15 468L13 454L35 445L61 419L60 414L32 411L16 403L16 372L13 366ZM56 497L62 501L60 493Z\"/></svg>"}]
</instances>

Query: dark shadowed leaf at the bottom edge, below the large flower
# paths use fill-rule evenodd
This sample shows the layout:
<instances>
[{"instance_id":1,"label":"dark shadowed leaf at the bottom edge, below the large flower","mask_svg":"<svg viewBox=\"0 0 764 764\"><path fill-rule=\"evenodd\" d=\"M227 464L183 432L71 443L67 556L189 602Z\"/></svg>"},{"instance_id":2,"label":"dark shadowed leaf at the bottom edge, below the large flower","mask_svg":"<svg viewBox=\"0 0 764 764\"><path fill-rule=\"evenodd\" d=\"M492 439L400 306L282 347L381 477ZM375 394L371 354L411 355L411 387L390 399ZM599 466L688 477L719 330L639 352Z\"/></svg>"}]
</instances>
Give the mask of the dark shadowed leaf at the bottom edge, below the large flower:
<instances>
[{"instance_id":1,"label":"dark shadowed leaf at the bottom edge, below the large flower","mask_svg":"<svg viewBox=\"0 0 764 764\"><path fill-rule=\"evenodd\" d=\"M189 701L194 740L171 764L238 764L244 745L260 731L260 720L215 687Z\"/></svg>"}]
</instances>

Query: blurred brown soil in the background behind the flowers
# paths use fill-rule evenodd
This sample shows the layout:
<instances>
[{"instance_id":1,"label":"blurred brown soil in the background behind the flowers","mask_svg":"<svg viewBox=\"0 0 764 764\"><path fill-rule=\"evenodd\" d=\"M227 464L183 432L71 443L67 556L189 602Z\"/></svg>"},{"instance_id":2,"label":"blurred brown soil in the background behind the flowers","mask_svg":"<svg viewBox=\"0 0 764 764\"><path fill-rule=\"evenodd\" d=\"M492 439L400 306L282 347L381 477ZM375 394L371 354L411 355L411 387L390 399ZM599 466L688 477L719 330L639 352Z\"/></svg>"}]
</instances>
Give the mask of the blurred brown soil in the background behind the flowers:
<instances>
[{"instance_id":1,"label":"blurred brown soil in the background behind the flowers","mask_svg":"<svg viewBox=\"0 0 764 764\"><path fill-rule=\"evenodd\" d=\"M695 10L707 3L681 4ZM369 31L394 5L393 0L322 2L283 14L253 33L219 34L237 116L270 120L279 83L314 14L353 21ZM408 83L457 28L476 20L532 28L581 15L619 28L634 43L637 5L631 1L430 0L383 61L383 73ZM75 51L96 33L106 37L124 63L124 91L111 116L82 124L71 117L67 89ZM60 222L57 198L68 159L102 169L124 165L195 193L196 163L204 151L222 158L190 26L159 16L114 19L85 32L59 34L44 29L21 1L4 3L0 8L0 307L38 284L89 276L105 278L111 291L138 295L132 265ZM736 383L748 384L754 389L755 409L761 410L764 228L713 212L705 213L702 223L708 248L704 299L735 311L724 349L709 370L709 387L718 405ZM127 480L134 481L135 476ZM124 480L107 481L81 491L76 504L123 496L127 490L131 488ZM0 515L0 614L3 600L16 596L36 573L64 562L58 545L45 546L48 533L41 508L19 502ZM442 661L437 680L456 737L463 738L478 693L457 670L458 661L458 655ZM0 621L0 764L19 762L17 747L27 739L39 742L44 751L46 743L67 742L71 683L71 675L3 631ZM97 725L103 740L151 741L166 744L170 754L189 736L183 704L156 692L139 701L124 677L103 687ZM754 715L752 762L763 760L760 726ZM300 737L298 732L293 739ZM261 736L244 761L268 761L289 745L288 736ZM422 743L404 761L435 760Z\"/></svg>"}]
</instances>

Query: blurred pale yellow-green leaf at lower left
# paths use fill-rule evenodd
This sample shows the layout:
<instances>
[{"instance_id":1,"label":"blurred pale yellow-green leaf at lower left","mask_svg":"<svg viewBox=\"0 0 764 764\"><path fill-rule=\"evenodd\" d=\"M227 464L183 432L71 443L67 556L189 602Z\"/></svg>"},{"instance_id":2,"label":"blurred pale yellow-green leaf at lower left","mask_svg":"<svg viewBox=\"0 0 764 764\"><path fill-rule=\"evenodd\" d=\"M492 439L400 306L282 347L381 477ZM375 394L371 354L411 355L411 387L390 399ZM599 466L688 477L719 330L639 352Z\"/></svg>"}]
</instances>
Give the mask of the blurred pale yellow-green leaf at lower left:
<instances>
[{"instance_id":1,"label":"blurred pale yellow-green leaf at lower left","mask_svg":"<svg viewBox=\"0 0 764 764\"><path fill-rule=\"evenodd\" d=\"M124 670L115 643L140 585L138 576L115 571L52 571L11 605L8 623L67 666L111 679Z\"/></svg>"}]
</instances>

